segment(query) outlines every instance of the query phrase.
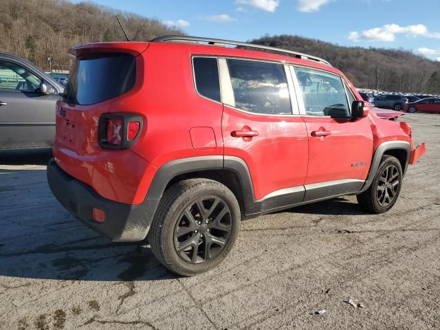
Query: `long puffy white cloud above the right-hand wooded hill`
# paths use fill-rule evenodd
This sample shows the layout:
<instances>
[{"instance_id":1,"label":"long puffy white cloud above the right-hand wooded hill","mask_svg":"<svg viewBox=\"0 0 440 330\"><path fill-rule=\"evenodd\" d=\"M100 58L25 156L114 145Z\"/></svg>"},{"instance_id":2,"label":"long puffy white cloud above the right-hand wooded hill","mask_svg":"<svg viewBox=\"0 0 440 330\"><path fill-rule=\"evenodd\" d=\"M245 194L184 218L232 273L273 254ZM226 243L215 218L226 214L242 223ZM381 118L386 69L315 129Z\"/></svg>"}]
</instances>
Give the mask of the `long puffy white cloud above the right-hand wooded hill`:
<instances>
[{"instance_id":1,"label":"long puffy white cloud above the right-hand wooded hill","mask_svg":"<svg viewBox=\"0 0 440 330\"><path fill-rule=\"evenodd\" d=\"M440 38L437 33L429 33L428 28L423 24L400 26L398 24L386 24L380 28L364 30L362 32L350 32L351 41L395 41L396 34L406 34L407 36L426 36L428 38Z\"/></svg>"}]
</instances>

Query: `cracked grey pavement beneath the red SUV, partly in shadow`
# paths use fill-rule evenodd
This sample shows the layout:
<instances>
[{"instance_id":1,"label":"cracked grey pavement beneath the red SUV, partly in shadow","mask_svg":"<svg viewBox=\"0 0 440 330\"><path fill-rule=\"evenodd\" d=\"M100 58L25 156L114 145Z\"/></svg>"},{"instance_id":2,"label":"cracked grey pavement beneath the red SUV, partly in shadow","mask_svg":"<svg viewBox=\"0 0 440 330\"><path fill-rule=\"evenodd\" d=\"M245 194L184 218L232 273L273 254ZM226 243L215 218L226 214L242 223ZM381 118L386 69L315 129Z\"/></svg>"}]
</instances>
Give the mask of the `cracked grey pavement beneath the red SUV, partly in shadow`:
<instances>
[{"instance_id":1,"label":"cracked grey pavement beneath the red SUV, partly in shadow","mask_svg":"<svg viewBox=\"0 0 440 330\"><path fill-rule=\"evenodd\" d=\"M343 197L244 221L228 259L192 278L70 216L50 156L2 158L0 329L439 329L440 115L404 118L428 152L390 212Z\"/></svg>"}]
</instances>

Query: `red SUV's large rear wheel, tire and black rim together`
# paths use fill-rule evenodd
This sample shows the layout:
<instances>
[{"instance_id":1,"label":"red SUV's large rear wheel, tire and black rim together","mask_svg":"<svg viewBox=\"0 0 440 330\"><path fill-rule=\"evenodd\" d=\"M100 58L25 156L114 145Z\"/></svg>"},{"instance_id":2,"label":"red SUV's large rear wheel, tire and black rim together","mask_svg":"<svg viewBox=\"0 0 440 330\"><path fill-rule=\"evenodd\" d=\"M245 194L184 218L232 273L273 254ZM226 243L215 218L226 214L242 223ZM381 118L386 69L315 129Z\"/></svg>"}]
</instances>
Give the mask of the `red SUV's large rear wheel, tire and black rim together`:
<instances>
[{"instance_id":1,"label":"red SUV's large rear wheel, tire and black rim together","mask_svg":"<svg viewBox=\"0 0 440 330\"><path fill-rule=\"evenodd\" d=\"M148 241L168 270L193 276L225 259L240 220L239 203L228 187L210 179L179 181L164 192Z\"/></svg>"}]
</instances>

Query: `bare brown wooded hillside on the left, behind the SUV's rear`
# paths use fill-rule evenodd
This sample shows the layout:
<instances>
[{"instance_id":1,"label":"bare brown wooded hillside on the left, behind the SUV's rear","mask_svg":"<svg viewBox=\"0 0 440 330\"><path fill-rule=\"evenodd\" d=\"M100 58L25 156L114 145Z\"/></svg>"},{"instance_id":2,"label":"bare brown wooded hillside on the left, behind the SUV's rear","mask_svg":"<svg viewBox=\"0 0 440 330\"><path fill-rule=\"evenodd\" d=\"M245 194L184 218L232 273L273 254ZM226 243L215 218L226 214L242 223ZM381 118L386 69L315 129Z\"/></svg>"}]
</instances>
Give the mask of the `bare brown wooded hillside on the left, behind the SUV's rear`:
<instances>
[{"instance_id":1,"label":"bare brown wooded hillside on the left, behind the SUV's rear","mask_svg":"<svg viewBox=\"0 0 440 330\"><path fill-rule=\"evenodd\" d=\"M0 52L27 58L48 70L69 69L67 50L81 43L124 41L115 14L133 41L182 34L156 19L120 12L94 3L65 0L0 0Z\"/></svg>"}]
</instances>

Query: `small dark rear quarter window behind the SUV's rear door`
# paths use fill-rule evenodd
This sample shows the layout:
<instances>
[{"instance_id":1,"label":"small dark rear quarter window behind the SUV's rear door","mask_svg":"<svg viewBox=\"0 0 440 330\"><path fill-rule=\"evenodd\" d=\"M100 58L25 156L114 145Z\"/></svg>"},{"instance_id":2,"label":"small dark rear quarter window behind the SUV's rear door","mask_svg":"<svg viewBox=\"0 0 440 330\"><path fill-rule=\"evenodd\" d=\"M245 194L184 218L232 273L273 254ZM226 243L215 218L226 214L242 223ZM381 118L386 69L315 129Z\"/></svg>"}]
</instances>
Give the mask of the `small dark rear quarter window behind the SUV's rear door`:
<instances>
[{"instance_id":1,"label":"small dark rear quarter window behind the SUV's rear door","mask_svg":"<svg viewBox=\"0 0 440 330\"><path fill-rule=\"evenodd\" d=\"M195 87L201 96L221 102L220 80L217 58L195 57L194 65Z\"/></svg>"}]
</instances>

